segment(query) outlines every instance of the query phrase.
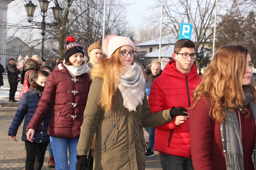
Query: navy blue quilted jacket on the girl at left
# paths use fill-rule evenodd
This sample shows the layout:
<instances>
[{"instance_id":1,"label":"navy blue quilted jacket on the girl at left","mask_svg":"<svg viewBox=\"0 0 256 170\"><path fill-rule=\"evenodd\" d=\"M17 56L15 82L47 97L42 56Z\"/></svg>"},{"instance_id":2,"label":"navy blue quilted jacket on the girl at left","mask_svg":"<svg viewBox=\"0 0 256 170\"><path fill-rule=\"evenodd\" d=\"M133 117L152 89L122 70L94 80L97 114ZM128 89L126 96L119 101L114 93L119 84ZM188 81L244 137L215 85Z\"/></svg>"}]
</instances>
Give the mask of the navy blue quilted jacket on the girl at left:
<instances>
[{"instance_id":1,"label":"navy blue quilted jacket on the girl at left","mask_svg":"<svg viewBox=\"0 0 256 170\"><path fill-rule=\"evenodd\" d=\"M43 94L42 91L35 90L34 88L30 87L29 91L25 92L22 95L22 98L19 101L17 112L9 128L9 132L8 132L9 136L17 135L18 128L25 117L23 131L22 131L22 141L28 141L27 135L26 135L26 128L27 128L28 122L31 120L35 110L37 109L37 105L42 94ZM51 116L51 109L52 108L50 108L49 112L46 113L46 117L43 119L43 121L40 122L38 130L35 131L34 139L33 139L34 142L44 143L44 142L50 141L50 138L47 134L47 129L49 125L49 118Z\"/></svg>"}]
</instances>

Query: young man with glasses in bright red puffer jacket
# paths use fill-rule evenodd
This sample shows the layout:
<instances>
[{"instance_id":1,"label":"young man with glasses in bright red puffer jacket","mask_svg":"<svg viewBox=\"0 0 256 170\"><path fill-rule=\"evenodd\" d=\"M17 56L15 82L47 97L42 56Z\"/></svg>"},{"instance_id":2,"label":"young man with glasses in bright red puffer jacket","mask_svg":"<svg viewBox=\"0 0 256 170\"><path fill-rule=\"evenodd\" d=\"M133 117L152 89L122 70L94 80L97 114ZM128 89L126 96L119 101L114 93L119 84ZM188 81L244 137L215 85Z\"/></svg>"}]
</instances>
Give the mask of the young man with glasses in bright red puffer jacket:
<instances>
[{"instance_id":1,"label":"young man with glasses in bright red puffer jacket","mask_svg":"<svg viewBox=\"0 0 256 170\"><path fill-rule=\"evenodd\" d=\"M200 75L193 64L197 54L195 44L180 39L160 77L151 86L148 98L151 112L182 106L190 112L192 91L200 83ZM156 127L154 149L159 152L163 170L193 170L190 153L188 116L176 116L171 122Z\"/></svg>"}]
</instances>

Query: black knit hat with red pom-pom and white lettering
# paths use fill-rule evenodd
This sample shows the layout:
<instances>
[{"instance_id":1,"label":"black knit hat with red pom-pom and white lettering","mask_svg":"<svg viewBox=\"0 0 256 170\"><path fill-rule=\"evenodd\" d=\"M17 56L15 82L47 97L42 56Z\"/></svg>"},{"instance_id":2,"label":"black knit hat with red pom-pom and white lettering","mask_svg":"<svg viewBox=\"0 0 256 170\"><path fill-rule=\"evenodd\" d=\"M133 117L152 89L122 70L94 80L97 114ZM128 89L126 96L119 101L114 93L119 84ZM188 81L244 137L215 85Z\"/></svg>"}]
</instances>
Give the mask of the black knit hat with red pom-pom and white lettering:
<instances>
[{"instance_id":1,"label":"black knit hat with red pom-pom and white lettering","mask_svg":"<svg viewBox=\"0 0 256 170\"><path fill-rule=\"evenodd\" d=\"M76 43L73 36L69 36L66 38L66 45L64 48L65 60L67 61L68 58L75 53L83 53L84 55L84 49L78 43Z\"/></svg>"}]
</instances>

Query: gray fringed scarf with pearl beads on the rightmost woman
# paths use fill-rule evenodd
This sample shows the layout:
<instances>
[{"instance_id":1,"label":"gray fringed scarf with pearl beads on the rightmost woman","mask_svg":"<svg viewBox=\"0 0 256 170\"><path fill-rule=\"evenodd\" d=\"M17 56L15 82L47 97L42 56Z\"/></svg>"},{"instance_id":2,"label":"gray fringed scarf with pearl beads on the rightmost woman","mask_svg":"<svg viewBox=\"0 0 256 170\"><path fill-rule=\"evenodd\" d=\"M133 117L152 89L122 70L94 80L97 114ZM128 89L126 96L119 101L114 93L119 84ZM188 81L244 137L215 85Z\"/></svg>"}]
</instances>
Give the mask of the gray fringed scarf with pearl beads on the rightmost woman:
<instances>
[{"instance_id":1,"label":"gray fringed scarf with pearl beads on the rightmost woman","mask_svg":"<svg viewBox=\"0 0 256 170\"><path fill-rule=\"evenodd\" d=\"M256 103L253 101L253 95L250 92L245 92L244 95L245 103L246 105L249 104L251 107L254 119L256 121ZM243 146L237 114L229 111L228 109L225 110L225 113L226 119L225 123L222 123L221 125L221 137L227 170L244 170ZM254 149L255 147L256 145L254 146Z\"/></svg>"}]
</instances>

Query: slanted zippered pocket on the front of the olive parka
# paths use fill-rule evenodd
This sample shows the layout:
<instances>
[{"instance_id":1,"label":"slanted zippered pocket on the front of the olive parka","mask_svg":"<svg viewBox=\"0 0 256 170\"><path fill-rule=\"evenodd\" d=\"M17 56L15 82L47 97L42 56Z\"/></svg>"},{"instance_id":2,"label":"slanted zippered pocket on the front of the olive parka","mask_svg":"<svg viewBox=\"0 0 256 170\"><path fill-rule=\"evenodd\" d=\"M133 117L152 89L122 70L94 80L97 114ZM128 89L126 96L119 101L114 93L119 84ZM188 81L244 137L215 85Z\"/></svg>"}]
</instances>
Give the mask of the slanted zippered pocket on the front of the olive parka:
<instances>
[{"instance_id":1,"label":"slanted zippered pocket on the front of the olive parka","mask_svg":"<svg viewBox=\"0 0 256 170\"><path fill-rule=\"evenodd\" d=\"M101 151L106 152L107 150L109 150L111 148L112 145L114 145L114 143L116 142L116 138L117 138L117 134L118 134L118 130L115 129L116 124L113 124L112 128L110 129L108 135L106 136L106 138L103 141L103 145L101 147Z\"/></svg>"}]
</instances>

